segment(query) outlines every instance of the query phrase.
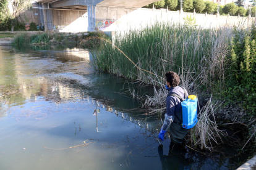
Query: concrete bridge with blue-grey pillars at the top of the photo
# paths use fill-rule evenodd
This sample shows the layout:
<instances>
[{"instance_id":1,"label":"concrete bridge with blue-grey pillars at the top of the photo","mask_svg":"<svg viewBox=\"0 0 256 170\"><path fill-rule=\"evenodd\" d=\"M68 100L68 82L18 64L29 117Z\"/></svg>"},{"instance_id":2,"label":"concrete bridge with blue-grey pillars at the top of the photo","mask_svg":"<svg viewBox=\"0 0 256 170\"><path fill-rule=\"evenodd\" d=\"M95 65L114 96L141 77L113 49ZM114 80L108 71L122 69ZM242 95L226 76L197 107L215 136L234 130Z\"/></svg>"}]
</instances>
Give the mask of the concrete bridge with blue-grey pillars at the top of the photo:
<instances>
[{"instance_id":1,"label":"concrete bridge with blue-grey pillars at the top of the photo","mask_svg":"<svg viewBox=\"0 0 256 170\"><path fill-rule=\"evenodd\" d=\"M45 30L95 31L157 0L36 0Z\"/></svg>"}]
</instances>

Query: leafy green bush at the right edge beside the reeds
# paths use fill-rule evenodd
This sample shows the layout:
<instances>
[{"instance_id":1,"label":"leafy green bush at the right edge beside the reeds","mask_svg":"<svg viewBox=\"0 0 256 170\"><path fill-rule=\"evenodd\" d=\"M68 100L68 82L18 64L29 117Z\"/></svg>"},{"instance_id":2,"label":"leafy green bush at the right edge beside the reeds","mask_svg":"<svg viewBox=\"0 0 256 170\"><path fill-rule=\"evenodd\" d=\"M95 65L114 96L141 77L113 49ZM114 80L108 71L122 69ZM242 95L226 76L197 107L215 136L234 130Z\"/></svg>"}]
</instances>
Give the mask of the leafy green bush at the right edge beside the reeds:
<instances>
[{"instance_id":1,"label":"leafy green bush at the right edge beside the reeds","mask_svg":"<svg viewBox=\"0 0 256 170\"><path fill-rule=\"evenodd\" d=\"M231 49L233 76L228 81L228 92L242 102L248 115L256 115L256 27L252 26L249 33L240 36L236 31Z\"/></svg>"}]
</instances>

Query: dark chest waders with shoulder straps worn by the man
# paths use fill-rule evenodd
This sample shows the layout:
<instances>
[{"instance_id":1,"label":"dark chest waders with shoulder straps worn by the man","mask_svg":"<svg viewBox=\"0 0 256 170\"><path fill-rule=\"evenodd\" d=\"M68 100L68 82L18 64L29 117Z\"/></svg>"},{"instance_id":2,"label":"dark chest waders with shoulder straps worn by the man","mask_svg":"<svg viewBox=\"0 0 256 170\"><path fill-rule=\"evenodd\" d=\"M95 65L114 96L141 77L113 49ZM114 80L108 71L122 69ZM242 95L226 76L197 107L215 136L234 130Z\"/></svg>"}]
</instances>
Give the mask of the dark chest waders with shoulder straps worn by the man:
<instances>
[{"instance_id":1,"label":"dark chest waders with shoulder straps worn by the man","mask_svg":"<svg viewBox=\"0 0 256 170\"><path fill-rule=\"evenodd\" d=\"M182 89L184 89L184 87L182 87ZM186 95L185 90L184 90L184 94ZM175 96L182 101L185 100L183 97L175 93L168 94L168 96ZM174 115L175 115L175 118L173 123L171 123L171 127L170 127L171 142L173 142L174 144L182 144L184 137L186 136L189 129L185 129L182 127L182 111L175 111Z\"/></svg>"}]
</instances>

